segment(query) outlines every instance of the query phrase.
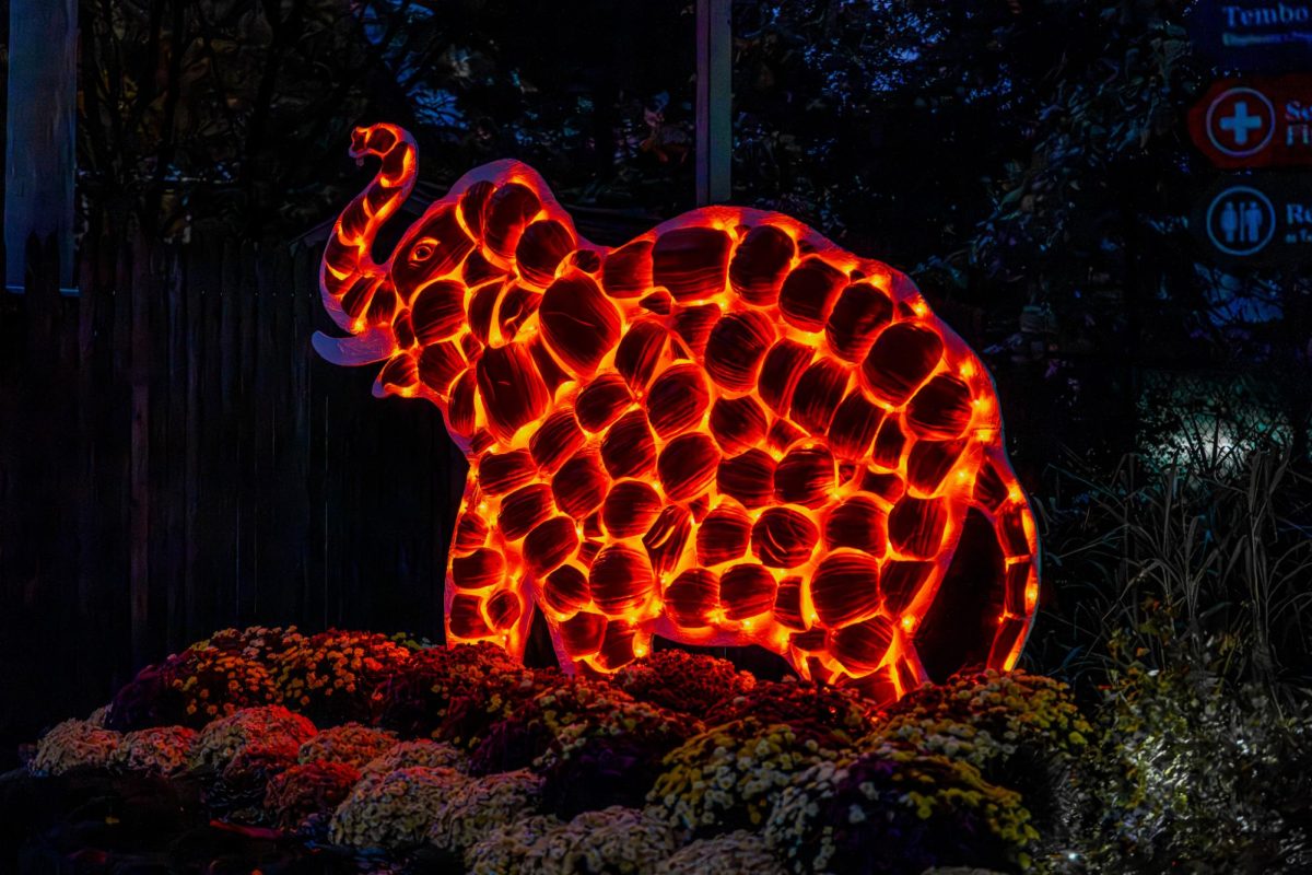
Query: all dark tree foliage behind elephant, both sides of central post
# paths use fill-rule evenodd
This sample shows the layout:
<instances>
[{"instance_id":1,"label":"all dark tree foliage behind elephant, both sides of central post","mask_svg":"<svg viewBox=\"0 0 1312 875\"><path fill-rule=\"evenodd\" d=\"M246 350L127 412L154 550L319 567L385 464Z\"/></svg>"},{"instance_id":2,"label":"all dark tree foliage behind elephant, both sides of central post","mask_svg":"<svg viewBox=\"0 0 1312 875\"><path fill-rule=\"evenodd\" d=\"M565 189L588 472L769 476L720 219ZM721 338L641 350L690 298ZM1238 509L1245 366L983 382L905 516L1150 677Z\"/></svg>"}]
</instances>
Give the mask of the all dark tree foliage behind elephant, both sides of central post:
<instances>
[{"instance_id":1,"label":"all dark tree foliage behind elephant, both sides of central post","mask_svg":"<svg viewBox=\"0 0 1312 875\"><path fill-rule=\"evenodd\" d=\"M1181 443L1139 422L1157 367L1245 375L1270 430L1308 453L1312 282L1208 265L1187 234L1211 171L1183 114L1214 75L1189 51L1187 3L732 8L735 201L912 270L989 349L1022 475L1065 446L1111 468ZM437 192L521 157L622 240L691 206L694 10L84 4L89 213L139 211L169 239L218 219L285 240L358 185L349 129L387 119L416 131ZM1191 386L1176 400L1206 407L1218 383Z\"/></svg>"}]
</instances>

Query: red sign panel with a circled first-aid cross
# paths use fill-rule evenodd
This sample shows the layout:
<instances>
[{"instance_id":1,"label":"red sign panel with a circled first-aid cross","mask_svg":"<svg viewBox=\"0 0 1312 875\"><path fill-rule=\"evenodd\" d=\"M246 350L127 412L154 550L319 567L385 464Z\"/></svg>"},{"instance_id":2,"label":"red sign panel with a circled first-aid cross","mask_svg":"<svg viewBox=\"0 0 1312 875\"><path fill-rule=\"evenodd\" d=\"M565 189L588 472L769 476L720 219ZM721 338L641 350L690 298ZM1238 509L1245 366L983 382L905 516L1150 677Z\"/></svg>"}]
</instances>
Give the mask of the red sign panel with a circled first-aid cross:
<instances>
[{"instance_id":1,"label":"red sign panel with a circled first-aid cross","mask_svg":"<svg viewBox=\"0 0 1312 875\"><path fill-rule=\"evenodd\" d=\"M1189 134L1216 167L1312 164L1312 75L1223 79L1189 110Z\"/></svg>"}]
</instances>

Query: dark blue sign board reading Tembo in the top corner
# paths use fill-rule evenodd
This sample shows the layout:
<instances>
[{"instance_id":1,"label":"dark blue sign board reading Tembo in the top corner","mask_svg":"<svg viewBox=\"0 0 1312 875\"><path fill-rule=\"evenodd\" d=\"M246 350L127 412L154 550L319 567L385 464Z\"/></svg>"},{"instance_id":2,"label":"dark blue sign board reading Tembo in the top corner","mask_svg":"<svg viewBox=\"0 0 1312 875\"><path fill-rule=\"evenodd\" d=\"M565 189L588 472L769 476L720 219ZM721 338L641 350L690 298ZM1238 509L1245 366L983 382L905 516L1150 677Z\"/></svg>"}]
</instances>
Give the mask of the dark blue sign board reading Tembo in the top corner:
<instances>
[{"instance_id":1,"label":"dark blue sign board reading Tembo in the top corner","mask_svg":"<svg viewBox=\"0 0 1312 875\"><path fill-rule=\"evenodd\" d=\"M1187 25L1195 54L1220 67L1312 68L1312 0L1199 0Z\"/></svg>"}]
</instances>

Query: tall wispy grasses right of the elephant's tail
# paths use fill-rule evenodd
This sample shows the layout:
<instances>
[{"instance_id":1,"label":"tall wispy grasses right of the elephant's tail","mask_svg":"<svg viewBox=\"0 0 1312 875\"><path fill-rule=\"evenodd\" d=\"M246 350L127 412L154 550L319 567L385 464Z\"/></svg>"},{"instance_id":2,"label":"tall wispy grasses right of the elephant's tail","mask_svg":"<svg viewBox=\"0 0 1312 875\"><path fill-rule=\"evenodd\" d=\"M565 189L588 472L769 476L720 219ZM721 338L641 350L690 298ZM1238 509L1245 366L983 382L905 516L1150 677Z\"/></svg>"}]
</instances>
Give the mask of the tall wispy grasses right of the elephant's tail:
<instances>
[{"instance_id":1,"label":"tall wispy grasses right of the elephant's tail","mask_svg":"<svg viewBox=\"0 0 1312 875\"><path fill-rule=\"evenodd\" d=\"M1030 659L1097 677L1151 602L1198 665L1223 657L1224 681L1277 699L1312 687L1312 497L1287 455L1236 450L1211 471L1127 458L1107 483L1059 472L1051 495L1038 508L1051 603ZM1131 645L1166 661L1156 635Z\"/></svg>"}]
</instances>

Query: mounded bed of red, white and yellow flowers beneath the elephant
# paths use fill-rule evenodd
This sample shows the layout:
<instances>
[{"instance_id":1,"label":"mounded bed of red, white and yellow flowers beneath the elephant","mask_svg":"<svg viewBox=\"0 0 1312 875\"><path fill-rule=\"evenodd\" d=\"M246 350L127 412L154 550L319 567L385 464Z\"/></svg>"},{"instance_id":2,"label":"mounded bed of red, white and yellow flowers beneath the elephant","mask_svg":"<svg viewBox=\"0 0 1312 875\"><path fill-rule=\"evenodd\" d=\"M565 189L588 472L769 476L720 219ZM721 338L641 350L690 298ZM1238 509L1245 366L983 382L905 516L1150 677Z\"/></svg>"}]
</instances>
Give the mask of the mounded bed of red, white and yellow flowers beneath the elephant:
<instances>
[{"instance_id":1,"label":"mounded bed of red, white and yellow flowers beneath the elephant","mask_svg":"<svg viewBox=\"0 0 1312 875\"><path fill-rule=\"evenodd\" d=\"M1075 782L1022 765L1075 762L1090 733L1025 673L875 711L682 652L568 678L485 645L228 630L55 727L25 779L195 787L210 829L377 871L1027 871Z\"/></svg>"}]
</instances>

